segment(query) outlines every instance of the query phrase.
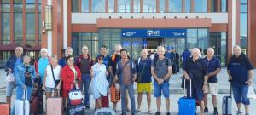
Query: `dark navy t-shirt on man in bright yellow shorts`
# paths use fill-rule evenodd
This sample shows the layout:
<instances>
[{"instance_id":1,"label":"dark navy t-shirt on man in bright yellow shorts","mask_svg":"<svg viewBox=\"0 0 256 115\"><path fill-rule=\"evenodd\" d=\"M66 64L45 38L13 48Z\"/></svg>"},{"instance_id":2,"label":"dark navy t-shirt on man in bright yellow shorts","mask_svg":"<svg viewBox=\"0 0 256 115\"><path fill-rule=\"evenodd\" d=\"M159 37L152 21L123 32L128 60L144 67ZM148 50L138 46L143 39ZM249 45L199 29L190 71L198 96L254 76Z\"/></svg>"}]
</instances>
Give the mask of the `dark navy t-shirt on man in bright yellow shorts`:
<instances>
[{"instance_id":1,"label":"dark navy t-shirt on man in bright yellow shorts","mask_svg":"<svg viewBox=\"0 0 256 115\"><path fill-rule=\"evenodd\" d=\"M136 68L137 68L137 78L141 77L139 83L151 83L151 59L147 58L147 60L142 60L142 58L139 58L136 63ZM144 70L143 70L143 66ZM143 71L143 72L142 72Z\"/></svg>"}]
</instances>

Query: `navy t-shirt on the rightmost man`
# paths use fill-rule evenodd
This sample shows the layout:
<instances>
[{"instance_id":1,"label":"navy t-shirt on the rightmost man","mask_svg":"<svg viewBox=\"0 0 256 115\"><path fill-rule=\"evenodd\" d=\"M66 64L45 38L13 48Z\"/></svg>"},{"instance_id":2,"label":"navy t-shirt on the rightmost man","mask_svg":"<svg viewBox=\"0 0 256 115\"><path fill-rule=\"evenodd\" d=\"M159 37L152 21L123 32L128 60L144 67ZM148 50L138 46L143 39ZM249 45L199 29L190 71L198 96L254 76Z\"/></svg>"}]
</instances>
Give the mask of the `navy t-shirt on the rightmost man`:
<instances>
[{"instance_id":1,"label":"navy t-shirt on the rightmost man","mask_svg":"<svg viewBox=\"0 0 256 115\"><path fill-rule=\"evenodd\" d=\"M247 55L241 54L239 58L232 56L228 64L232 76L232 82L245 83L248 79L248 71L253 69L253 65Z\"/></svg>"}]
</instances>

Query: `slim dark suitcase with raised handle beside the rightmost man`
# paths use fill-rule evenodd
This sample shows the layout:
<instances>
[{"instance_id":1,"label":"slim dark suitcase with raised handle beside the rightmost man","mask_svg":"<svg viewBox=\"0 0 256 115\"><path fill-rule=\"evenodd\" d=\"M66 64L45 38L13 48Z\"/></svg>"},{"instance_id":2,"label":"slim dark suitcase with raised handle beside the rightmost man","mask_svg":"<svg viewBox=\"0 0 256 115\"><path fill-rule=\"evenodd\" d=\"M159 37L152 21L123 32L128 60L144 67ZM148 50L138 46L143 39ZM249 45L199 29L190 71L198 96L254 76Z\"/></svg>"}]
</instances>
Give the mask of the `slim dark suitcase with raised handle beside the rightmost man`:
<instances>
[{"instance_id":1,"label":"slim dark suitcase with raised handle beside the rightmost man","mask_svg":"<svg viewBox=\"0 0 256 115\"><path fill-rule=\"evenodd\" d=\"M223 115L232 115L232 89L230 85L230 95L224 96L222 100Z\"/></svg>"}]
</instances>

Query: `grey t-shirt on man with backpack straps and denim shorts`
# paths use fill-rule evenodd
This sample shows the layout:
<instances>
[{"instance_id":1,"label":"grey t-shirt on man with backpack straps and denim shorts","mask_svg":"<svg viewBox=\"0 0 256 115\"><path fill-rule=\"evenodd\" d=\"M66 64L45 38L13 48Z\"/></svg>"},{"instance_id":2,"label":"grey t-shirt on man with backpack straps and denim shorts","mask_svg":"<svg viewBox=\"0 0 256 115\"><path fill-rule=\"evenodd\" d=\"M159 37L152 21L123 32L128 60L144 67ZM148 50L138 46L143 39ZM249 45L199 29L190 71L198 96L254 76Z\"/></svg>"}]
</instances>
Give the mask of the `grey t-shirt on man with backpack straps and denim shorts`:
<instances>
[{"instance_id":1,"label":"grey t-shirt on man with backpack straps and denim shorts","mask_svg":"<svg viewBox=\"0 0 256 115\"><path fill-rule=\"evenodd\" d=\"M166 59L160 60L159 58L156 60L155 66L154 66L154 60L151 62L151 67L154 67L154 73L158 78L164 78L168 73L168 67L172 67L172 63L170 59L168 60L168 64L166 64Z\"/></svg>"}]
</instances>

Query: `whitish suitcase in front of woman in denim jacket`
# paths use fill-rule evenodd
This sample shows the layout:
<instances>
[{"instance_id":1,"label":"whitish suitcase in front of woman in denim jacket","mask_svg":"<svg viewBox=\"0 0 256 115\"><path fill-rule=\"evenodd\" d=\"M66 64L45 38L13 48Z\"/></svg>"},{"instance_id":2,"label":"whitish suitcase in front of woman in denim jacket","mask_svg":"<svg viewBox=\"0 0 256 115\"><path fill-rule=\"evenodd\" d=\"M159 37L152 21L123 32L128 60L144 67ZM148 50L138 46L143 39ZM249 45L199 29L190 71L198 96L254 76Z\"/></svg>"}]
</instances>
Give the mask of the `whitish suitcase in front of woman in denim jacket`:
<instances>
[{"instance_id":1,"label":"whitish suitcase in front of woman in denim jacket","mask_svg":"<svg viewBox=\"0 0 256 115\"><path fill-rule=\"evenodd\" d=\"M15 115L29 115L29 101L27 100L27 90L24 89L23 100L15 101Z\"/></svg>"}]
</instances>

